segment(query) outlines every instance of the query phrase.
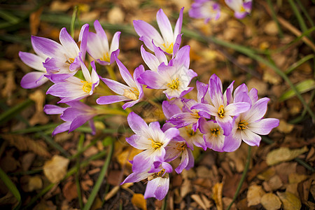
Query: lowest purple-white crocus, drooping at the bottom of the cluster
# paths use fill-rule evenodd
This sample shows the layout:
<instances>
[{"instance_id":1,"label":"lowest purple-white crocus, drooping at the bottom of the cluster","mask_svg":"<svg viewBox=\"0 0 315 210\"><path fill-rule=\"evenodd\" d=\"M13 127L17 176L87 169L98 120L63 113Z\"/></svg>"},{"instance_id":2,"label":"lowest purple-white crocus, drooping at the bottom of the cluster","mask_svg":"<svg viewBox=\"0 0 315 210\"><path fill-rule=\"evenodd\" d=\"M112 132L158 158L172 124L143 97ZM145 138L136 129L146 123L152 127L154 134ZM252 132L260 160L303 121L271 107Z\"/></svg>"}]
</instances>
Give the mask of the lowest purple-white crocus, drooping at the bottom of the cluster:
<instances>
[{"instance_id":1,"label":"lowest purple-white crocus, drooping at the bottom of the cluster","mask_svg":"<svg viewBox=\"0 0 315 210\"><path fill-rule=\"evenodd\" d=\"M153 168L148 172L134 172L130 174L120 185L148 179L144 198L155 197L158 200L162 200L169 191L169 173L172 171L172 166L169 163L162 162L160 167L156 169Z\"/></svg>"}]
</instances>

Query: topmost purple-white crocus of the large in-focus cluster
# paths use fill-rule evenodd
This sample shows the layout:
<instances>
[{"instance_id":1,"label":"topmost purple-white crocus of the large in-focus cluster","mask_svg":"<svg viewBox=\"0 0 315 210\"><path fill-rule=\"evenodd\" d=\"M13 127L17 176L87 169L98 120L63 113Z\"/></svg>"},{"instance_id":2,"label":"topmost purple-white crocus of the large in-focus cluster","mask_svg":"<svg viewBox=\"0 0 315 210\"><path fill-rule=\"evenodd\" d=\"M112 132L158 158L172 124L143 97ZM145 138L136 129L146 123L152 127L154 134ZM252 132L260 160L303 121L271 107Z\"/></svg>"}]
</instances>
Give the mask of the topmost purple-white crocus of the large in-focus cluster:
<instances>
[{"instance_id":1,"label":"topmost purple-white crocus of the large in-focus cluster","mask_svg":"<svg viewBox=\"0 0 315 210\"><path fill-rule=\"evenodd\" d=\"M173 31L172 25L167 18L167 15L162 9L158 10L156 14L160 33L150 24L143 20L134 20L134 29L140 36L140 40L144 42L147 48L154 51L153 45L160 47L169 55L175 55L181 45L181 26L183 24L183 8L179 13L179 19L176 22Z\"/></svg>"}]
</instances>

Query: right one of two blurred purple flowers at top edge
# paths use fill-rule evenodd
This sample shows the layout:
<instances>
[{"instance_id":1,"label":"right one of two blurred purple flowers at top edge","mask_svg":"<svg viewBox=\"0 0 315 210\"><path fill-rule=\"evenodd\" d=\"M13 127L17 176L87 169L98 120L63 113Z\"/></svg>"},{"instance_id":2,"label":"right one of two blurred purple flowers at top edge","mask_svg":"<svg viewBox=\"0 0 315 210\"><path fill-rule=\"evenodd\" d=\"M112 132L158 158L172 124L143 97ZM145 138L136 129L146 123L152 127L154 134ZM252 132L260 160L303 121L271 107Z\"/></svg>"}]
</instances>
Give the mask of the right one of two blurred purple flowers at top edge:
<instances>
[{"instance_id":1,"label":"right one of two blurred purple flowers at top edge","mask_svg":"<svg viewBox=\"0 0 315 210\"><path fill-rule=\"evenodd\" d=\"M251 13L252 0L225 0L225 3L234 10L235 18L242 19Z\"/></svg>"}]
</instances>

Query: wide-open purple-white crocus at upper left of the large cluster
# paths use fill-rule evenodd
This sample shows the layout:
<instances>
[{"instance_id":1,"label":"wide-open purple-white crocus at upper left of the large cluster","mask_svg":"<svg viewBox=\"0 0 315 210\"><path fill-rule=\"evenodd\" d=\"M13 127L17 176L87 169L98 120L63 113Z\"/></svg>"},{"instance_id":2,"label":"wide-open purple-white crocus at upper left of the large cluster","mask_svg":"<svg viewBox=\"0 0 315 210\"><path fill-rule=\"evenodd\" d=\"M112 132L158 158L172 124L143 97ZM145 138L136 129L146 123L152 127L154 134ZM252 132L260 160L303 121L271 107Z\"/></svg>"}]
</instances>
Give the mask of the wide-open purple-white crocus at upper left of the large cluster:
<instances>
[{"instance_id":1,"label":"wide-open purple-white crocus at upper left of the large cluster","mask_svg":"<svg viewBox=\"0 0 315 210\"><path fill-rule=\"evenodd\" d=\"M50 80L55 82L69 78L80 69L81 60L85 60L88 29L89 25L83 25L80 30L78 43L73 40L66 28L62 28L59 34L61 44L49 38L31 37L34 50L48 57L43 66L47 70Z\"/></svg>"}]
</instances>

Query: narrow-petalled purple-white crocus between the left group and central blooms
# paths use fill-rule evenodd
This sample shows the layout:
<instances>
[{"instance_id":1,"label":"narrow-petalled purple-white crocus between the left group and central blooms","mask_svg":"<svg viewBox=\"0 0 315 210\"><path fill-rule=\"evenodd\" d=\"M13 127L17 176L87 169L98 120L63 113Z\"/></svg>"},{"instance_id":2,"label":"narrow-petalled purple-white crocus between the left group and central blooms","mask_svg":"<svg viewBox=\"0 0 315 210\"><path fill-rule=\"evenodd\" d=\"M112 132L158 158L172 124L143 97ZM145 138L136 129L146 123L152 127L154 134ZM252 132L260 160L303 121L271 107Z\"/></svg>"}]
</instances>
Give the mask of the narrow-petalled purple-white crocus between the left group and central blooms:
<instances>
[{"instance_id":1,"label":"narrow-petalled purple-white crocus between the left group and central blooms","mask_svg":"<svg viewBox=\"0 0 315 210\"><path fill-rule=\"evenodd\" d=\"M132 78L128 69L123 65L122 62L120 62L117 57L116 62L118 64L120 74L127 85L118 83L117 81L108 78L101 78L104 83L106 83L106 85L109 86L111 90L113 90L113 92L116 92L120 95L99 97L97 99L97 104L112 104L116 102L131 101L123 105L123 109L126 109L134 106L134 104L140 102L140 100L144 97L144 85L141 85L137 80L141 73L144 73L144 66L140 65L137 67L137 69L134 69L134 77Z\"/></svg>"}]
</instances>

